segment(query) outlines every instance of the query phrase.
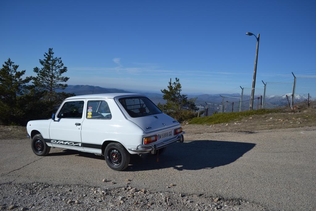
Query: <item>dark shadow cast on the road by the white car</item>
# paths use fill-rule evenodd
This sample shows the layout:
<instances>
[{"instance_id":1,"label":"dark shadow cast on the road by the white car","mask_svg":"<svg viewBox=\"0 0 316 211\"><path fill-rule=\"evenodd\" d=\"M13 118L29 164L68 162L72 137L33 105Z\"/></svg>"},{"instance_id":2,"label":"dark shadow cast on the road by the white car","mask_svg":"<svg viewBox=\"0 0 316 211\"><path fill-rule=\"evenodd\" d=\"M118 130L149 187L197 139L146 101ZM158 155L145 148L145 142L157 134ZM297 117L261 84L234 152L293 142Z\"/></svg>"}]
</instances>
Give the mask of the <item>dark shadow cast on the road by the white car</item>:
<instances>
[{"instance_id":1,"label":"dark shadow cast on the road by the white car","mask_svg":"<svg viewBox=\"0 0 316 211\"><path fill-rule=\"evenodd\" d=\"M233 163L251 150L256 144L199 140L169 145L161 155L145 154L143 157L131 155L131 162L125 171L146 171L173 168L182 170L213 169ZM76 155L104 160L104 156L76 150L64 149L49 153L47 156ZM159 162L157 162L159 158Z\"/></svg>"}]
</instances>

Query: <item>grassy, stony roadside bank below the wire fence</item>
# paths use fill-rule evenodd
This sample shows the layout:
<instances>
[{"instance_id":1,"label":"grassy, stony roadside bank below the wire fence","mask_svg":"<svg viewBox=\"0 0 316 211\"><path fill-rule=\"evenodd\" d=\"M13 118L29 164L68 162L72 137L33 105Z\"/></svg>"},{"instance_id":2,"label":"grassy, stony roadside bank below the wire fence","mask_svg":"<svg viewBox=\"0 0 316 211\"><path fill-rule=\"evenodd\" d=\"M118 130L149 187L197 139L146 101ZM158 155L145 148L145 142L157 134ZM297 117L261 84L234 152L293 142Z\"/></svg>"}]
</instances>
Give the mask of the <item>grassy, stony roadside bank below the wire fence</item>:
<instances>
[{"instance_id":1,"label":"grassy, stony roadside bank below the wire fence","mask_svg":"<svg viewBox=\"0 0 316 211\"><path fill-rule=\"evenodd\" d=\"M193 118L183 123L184 131L200 134L212 132L254 132L267 129L297 128L316 125L316 102L310 108L260 109L236 113L219 113Z\"/></svg>"}]
</instances>

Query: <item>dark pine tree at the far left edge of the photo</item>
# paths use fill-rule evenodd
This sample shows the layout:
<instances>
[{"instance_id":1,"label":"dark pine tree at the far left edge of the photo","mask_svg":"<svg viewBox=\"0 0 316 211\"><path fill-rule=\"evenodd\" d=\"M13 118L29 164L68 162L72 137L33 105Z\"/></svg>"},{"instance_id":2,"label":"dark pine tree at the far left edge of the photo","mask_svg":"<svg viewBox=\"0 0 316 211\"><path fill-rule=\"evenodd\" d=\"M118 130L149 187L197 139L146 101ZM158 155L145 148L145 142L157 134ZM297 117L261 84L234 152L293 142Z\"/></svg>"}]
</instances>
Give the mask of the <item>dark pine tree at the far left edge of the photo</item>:
<instances>
[{"instance_id":1,"label":"dark pine tree at the far left edge of the photo","mask_svg":"<svg viewBox=\"0 0 316 211\"><path fill-rule=\"evenodd\" d=\"M3 124L16 124L21 118L23 110L19 108L19 98L32 79L22 79L25 70L17 71L18 67L9 58L0 69L0 121Z\"/></svg>"}]
</instances>

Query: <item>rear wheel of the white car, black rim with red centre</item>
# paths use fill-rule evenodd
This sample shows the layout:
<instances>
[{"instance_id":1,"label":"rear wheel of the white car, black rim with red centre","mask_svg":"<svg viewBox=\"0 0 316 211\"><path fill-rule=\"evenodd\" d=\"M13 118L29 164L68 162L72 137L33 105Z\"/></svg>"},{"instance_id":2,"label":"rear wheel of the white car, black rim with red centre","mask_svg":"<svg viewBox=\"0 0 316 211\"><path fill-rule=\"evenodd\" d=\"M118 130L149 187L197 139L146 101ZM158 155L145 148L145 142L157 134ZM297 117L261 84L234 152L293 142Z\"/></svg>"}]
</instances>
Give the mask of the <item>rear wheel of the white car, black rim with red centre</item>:
<instances>
[{"instance_id":1,"label":"rear wheel of the white car, black rim with red centre","mask_svg":"<svg viewBox=\"0 0 316 211\"><path fill-rule=\"evenodd\" d=\"M130 153L117 142L108 144L104 150L106 164L113 170L123 171L130 164Z\"/></svg>"}]
</instances>

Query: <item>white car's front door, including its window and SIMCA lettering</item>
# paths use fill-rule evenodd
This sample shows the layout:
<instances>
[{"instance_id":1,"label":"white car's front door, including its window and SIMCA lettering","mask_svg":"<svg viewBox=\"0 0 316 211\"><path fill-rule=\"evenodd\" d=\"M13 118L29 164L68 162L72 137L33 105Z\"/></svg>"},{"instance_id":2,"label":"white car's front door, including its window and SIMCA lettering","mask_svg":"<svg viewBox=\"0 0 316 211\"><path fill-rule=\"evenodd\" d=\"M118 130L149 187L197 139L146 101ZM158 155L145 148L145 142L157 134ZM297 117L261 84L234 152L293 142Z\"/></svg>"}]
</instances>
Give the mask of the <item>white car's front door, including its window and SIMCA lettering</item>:
<instances>
[{"instance_id":1,"label":"white car's front door, including its window and SIMCA lettering","mask_svg":"<svg viewBox=\"0 0 316 211\"><path fill-rule=\"evenodd\" d=\"M50 143L53 147L83 151L81 127L85 101L78 99L63 103L49 127Z\"/></svg>"}]
</instances>

